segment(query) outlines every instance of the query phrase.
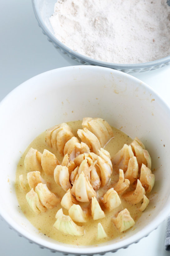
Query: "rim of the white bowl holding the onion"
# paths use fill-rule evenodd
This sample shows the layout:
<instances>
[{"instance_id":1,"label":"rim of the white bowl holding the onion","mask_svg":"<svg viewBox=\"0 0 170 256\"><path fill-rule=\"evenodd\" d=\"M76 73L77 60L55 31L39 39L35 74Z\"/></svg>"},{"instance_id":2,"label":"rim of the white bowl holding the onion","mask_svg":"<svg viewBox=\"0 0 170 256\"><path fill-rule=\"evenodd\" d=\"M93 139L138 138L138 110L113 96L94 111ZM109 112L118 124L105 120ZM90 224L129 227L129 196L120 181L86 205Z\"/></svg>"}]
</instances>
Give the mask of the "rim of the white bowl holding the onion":
<instances>
[{"instance_id":1,"label":"rim of the white bowl holding the onion","mask_svg":"<svg viewBox=\"0 0 170 256\"><path fill-rule=\"evenodd\" d=\"M67 70L80 70L81 69L86 69L86 70L97 70L102 71L102 70L106 70L108 69L109 72L111 72L113 75L114 74L119 74L123 77L130 77L130 79L134 82L136 82L139 86L143 86L143 88L146 88L148 91L152 92L152 95L155 99L158 99L159 102L162 103L162 106L165 110L168 110L169 115L170 115L170 106L160 97L160 95L158 95L157 92L155 92L153 90L153 88L151 88L149 85L147 85L146 83L142 82L141 80L135 78L132 75L123 73L121 71L118 70L113 70L113 69L109 69L106 67L99 67L99 66L90 66L90 65L76 65L76 66L68 66L68 67L62 67L62 68L58 68L58 69L53 69L53 70L49 70L46 72L43 72L41 74L38 74L28 80L26 80L25 82L23 82L22 84L18 85L15 89L13 89L1 102L0 102L0 108L3 107L3 105L6 104L6 101L8 101L8 98L12 97L13 93L16 93L17 90L20 90L23 87L27 87L27 83L30 82L32 83L34 81L34 79L39 79L43 76L48 76L48 75L53 75L54 73L60 73L61 70L65 70L65 72ZM32 83L34 84L34 83ZM76 254L76 255L92 255L92 254L98 254L98 253L106 253L106 252L115 252L120 248L127 248L130 244L132 243L136 243L138 242L140 239L142 239L145 236L148 236L148 234L150 232L152 232L154 229L156 229L167 217L168 214L170 213L170 205L166 205L164 207L164 210L161 211L156 217L155 219L149 223L147 226L145 226L140 232L130 236L129 238L117 242L117 243L113 243L113 244L106 244L106 245L102 245L100 244L99 246L93 246L93 247L69 247L69 245L66 246L66 244L62 244L58 245L55 244L53 242L47 242L42 240L41 238L34 238L32 239L32 235L27 233L27 231L25 229L23 229L21 226L19 226L12 218L11 216L6 212L3 211L3 207L0 207L0 215L2 216L2 218L10 225L10 227L12 227L12 229L14 229L15 231L17 231L17 233L21 234L23 237L27 238L29 241L31 241L32 243L36 243L38 245L40 245L43 248L48 248L51 251L58 251L61 253L70 253L70 254ZM58 247L58 248L57 248Z\"/></svg>"}]
</instances>

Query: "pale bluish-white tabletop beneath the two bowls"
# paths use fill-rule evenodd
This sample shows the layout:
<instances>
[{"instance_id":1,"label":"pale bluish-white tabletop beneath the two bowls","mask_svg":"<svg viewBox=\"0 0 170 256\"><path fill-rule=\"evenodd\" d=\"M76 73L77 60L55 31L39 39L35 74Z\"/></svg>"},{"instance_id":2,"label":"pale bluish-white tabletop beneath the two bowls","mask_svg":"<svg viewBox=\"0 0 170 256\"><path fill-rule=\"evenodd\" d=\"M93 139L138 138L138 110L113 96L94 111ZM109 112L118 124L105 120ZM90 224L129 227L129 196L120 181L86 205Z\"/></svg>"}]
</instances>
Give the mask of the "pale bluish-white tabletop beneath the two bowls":
<instances>
[{"instance_id":1,"label":"pale bluish-white tabletop beneath the two bowls","mask_svg":"<svg viewBox=\"0 0 170 256\"><path fill-rule=\"evenodd\" d=\"M0 1L0 100L25 80L50 69L76 63L63 56L41 33L32 10L31 0ZM170 66L135 77L149 84L170 105ZM148 237L126 249L107 256L165 256L164 250L166 220ZM30 256L51 255L51 251L30 244L19 237L0 220L0 255ZM62 255L54 253L54 255Z\"/></svg>"}]
</instances>

